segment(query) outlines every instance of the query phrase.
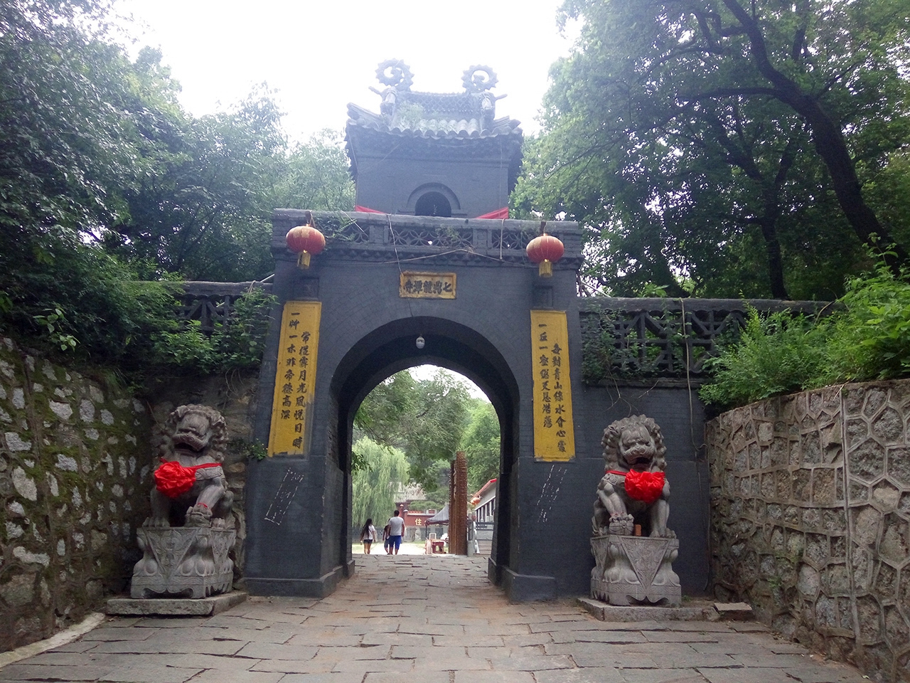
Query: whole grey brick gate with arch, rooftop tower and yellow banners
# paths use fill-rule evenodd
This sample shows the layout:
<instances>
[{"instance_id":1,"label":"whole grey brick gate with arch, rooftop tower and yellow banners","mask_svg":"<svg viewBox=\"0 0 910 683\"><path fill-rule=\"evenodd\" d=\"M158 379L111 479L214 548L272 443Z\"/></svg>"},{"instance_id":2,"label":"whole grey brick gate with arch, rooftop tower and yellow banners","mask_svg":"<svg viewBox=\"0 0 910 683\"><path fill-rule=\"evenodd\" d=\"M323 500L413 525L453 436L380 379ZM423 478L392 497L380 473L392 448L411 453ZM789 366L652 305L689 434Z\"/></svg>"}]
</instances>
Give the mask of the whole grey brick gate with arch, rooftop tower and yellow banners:
<instances>
[{"instance_id":1,"label":"whole grey brick gate with arch, rooftop tower and yellow banners","mask_svg":"<svg viewBox=\"0 0 910 683\"><path fill-rule=\"evenodd\" d=\"M652 416L672 443L672 514L680 546L690 549L674 569L683 589L697 593L708 576L707 487L691 394L648 383L620 396L616 387L581 381L581 318L589 312L576 296L581 230L550 224L565 254L551 277L540 277L525 253L540 223L508 219L522 134L518 121L495 115L495 76L471 67L464 93L418 93L399 67L381 78L388 89L379 113L349 106L358 211L313 214L325 250L298 267L285 236L307 224L309 212L273 215L278 307L254 429L269 457L246 469L247 536L238 559L248 590L325 596L355 571L354 413L392 372L434 363L476 382L499 416L489 575L512 600L589 593L603 428L637 413ZM401 117L418 111L425 117L402 127ZM430 186L457 198L460 218L407 215L420 213L410 201ZM625 329L622 321L595 322ZM656 323L642 318L642 334L648 324Z\"/></svg>"}]
</instances>

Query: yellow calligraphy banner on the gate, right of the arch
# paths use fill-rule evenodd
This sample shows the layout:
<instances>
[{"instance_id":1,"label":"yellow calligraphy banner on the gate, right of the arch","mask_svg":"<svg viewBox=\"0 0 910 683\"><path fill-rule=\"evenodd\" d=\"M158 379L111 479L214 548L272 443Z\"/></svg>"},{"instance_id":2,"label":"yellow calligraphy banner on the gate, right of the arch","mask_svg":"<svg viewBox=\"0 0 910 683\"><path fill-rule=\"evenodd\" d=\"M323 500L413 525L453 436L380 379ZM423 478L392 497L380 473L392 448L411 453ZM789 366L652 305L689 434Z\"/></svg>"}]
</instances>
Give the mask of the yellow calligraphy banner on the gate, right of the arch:
<instances>
[{"instance_id":1,"label":"yellow calligraphy banner on the gate, right of the arch","mask_svg":"<svg viewBox=\"0 0 910 683\"><path fill-rule=\"evenodd\" d=\"M575 423L569 382L569 330L565 311L531 311L534 457L575 457Z\"/></svg>"}]
</instances>

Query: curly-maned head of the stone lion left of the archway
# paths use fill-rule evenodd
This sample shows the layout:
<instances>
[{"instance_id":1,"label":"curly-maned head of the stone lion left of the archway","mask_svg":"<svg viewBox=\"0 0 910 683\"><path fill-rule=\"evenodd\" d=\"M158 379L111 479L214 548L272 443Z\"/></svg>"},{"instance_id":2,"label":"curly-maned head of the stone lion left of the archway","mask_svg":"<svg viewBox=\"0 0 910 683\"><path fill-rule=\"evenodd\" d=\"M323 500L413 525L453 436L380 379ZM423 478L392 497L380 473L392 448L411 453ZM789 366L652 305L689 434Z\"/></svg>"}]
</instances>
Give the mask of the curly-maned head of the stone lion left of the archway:
<instances>
[{"instance_id":1,"label":"curly-maned head of the stone lion left of the archway","mask_svg":"<svg viewBox=\"0 0 910 683\"><path fill-rule=\"evenodd\" d=\"M179 406L161 425L158 456L173 460L179 453L194 460L220 463L226 446L227 425L221 413L207 405L191 403Z\"/></svg>"}]
</instances>

